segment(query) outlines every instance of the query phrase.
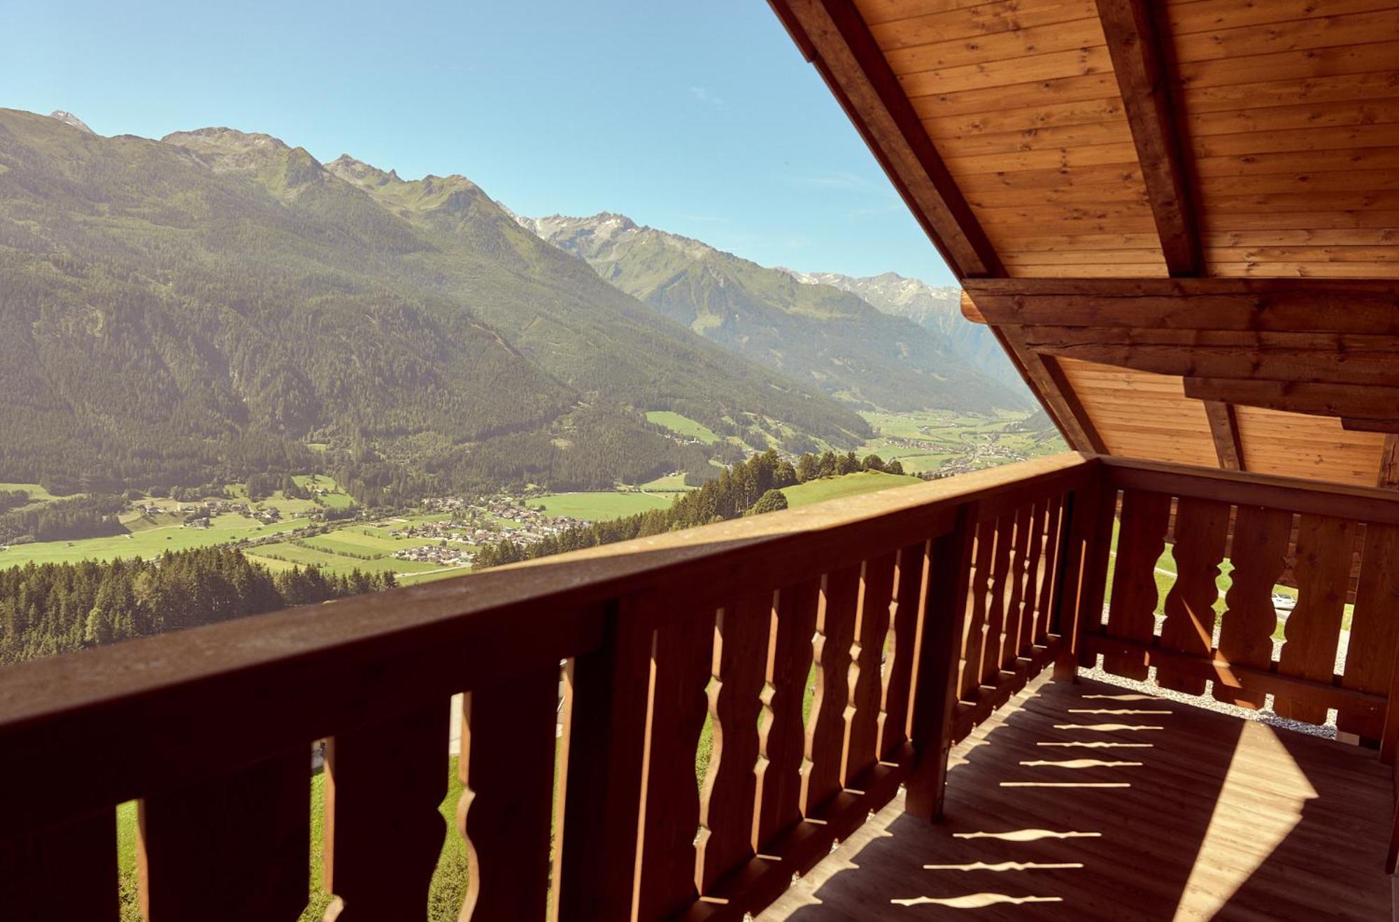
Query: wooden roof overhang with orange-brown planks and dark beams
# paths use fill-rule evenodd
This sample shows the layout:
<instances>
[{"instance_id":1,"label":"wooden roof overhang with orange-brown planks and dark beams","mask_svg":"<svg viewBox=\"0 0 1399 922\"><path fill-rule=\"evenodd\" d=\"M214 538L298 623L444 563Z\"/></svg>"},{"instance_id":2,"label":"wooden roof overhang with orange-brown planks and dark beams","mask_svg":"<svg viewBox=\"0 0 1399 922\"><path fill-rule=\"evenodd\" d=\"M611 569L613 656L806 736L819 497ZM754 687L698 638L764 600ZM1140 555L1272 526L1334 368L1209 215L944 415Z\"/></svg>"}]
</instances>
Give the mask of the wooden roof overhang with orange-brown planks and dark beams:
<instances>
[{"instance_id":1,"label":"wooden roof overhang with orange-brown planks and dark beams","mask_svg":"<svg viewBox=\"0 0 1399 922\"><path fill-rule=\"evenodd\" d=\"M1399 0L771 0L1084 451L1399 486Z\"/></svg>"}]
</instances>

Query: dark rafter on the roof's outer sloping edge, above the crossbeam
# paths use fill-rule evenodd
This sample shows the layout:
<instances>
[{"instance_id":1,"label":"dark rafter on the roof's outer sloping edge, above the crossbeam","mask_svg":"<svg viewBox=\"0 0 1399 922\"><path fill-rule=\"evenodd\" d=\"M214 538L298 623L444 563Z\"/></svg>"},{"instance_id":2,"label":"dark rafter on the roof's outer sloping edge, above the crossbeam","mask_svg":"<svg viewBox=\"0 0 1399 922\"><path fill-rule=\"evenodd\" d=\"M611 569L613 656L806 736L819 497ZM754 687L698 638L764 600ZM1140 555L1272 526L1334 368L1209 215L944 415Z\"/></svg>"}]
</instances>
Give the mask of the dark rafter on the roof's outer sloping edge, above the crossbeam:
<instances>
[{"instance_id":1,"label":"dark rafter on the roof's outer sloping edge, above the crossbeam","mask_svg":"<svg viewBox=\"0 0 1399 922\"><path fill-rule=\"evenodd\" d=\"M996 251L855 6L838 0L771 3L953 272L958 278L997 275Z\"/></svg>"}]
</instances>

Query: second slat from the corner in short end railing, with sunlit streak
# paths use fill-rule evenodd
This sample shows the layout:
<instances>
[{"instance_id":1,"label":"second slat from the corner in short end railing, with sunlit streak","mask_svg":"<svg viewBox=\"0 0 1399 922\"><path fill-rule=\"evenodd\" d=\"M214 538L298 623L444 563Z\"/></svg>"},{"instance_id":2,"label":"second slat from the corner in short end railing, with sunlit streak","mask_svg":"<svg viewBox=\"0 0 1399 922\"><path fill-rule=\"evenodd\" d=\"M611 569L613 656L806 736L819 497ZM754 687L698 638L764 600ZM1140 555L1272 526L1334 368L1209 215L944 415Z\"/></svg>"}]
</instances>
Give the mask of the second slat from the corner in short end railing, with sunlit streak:
<instances>
[{"instance_id":1,"label":"second slat from the corner in short end railing, with sunlit streak","mask_svg":"<svg viewBox=\"0 0 1399 922\"><path fill-rule=\"evenodd\" d=\"M1175 583L1165 597L1165 622L1161 647L1196 657L1209 657L1214 648L1214 603L1219 601L1216 578L1224 560L1228 538L1230 507L1193 497L1182 497L1175 511ZM1205 682L1179 675L1163 665L1156 683L1185 694L1205 694Z\"/></svg>"}]
</instances>

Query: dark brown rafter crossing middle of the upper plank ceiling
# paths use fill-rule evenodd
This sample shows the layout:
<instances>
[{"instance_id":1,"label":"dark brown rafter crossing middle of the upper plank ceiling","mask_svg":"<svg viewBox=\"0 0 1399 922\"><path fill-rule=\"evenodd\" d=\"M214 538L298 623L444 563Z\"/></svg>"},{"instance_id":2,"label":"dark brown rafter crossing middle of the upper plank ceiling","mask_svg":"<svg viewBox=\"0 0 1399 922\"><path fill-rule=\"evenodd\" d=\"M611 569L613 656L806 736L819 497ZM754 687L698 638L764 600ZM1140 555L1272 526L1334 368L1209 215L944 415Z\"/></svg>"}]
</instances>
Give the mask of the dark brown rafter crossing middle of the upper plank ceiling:
<instances>
[{"instance_id":1,"label":"dark brown rafter crossing middle of the upper plank ceiling","mask_svg":"<svg viewBox=\"0 0 1399 922\"><path fill-rule=\"evenodd\" d=\"M1175 277L1200 275L1205 253L1191 201L1186 151L1172 116L1165 47L1150 4L1097 3L1167 270Z\"/></svg>"}]
</instances>

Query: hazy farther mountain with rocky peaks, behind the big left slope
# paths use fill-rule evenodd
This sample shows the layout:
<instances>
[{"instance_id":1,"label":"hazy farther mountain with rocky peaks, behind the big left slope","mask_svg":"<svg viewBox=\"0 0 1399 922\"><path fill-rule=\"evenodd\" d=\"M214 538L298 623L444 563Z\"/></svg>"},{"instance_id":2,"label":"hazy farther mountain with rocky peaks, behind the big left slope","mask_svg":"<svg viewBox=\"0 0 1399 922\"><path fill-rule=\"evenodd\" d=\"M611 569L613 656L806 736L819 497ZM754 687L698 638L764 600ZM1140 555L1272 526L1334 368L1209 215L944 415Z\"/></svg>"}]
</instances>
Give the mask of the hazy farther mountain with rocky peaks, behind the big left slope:
<instances>
[{"instance_id":1,"label":"hazy farther mountain with rocky peaks, behind the big left slope","mask_svg":"<svg viewBox=\"0 0 1399 922\"><path fill-rule=\"evenodd\" d=\"M858 295L806 285L698 240L623 215L520 218L659 313L797 381L860 408L1021 408L1028 394L992 380L947 338Z\"/></svg>"}]
</instances>

